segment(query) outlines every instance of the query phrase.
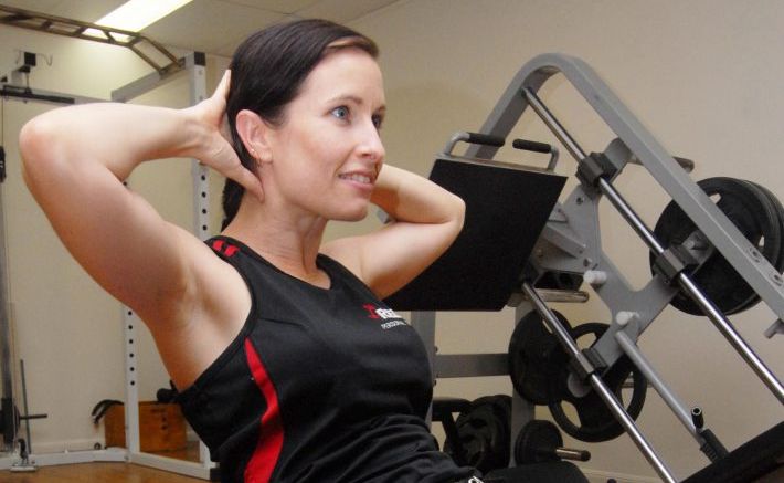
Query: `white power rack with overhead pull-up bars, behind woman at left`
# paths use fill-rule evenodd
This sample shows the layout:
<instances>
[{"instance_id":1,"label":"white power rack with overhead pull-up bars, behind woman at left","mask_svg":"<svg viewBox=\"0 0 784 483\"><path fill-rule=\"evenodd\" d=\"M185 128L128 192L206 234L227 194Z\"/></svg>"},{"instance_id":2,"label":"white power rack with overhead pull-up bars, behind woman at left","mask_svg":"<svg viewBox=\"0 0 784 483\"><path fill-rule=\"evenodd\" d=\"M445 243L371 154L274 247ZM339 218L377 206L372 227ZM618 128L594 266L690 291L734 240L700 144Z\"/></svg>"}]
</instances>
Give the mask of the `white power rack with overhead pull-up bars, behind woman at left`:
<instances>
[{"instance_id":1,"label":"white power rack with overhead pull-up bars, behind woman at left","mask_svg":"<svg viewBox=\"0 0 784 483\"><path fill-rule=\"evenodd\" d=\"M3 15L4 14L4 15ZM71 19L47 15L44 13L15 9L0 6L0 24L7 24L44 33L71 36L125 46L134 51L141 60L153 67L153 72L142 76L125 86L112 92L110 101L129 102L147 92L150 92L165 83L177 78L180 75L188 76L190 90L190 104L197 104L206 98L206 59L201 52L190 53L181 59L174 57L165 48L155 41L134 32L117 31L102 25L80 22ZM97 29L102 32L98 36L88 35L86 29ZM120 36L118 36L120 35ZM127 41L117 39L126 35ZM148 49L139 50L139 45L147 45ZM24 65L9 75L0 78L0 97L19 99L22 102L43 102L54 105L83 104L93 102L105 102L106 99L85 97L74 94L63 94L43 90L33 90L27 82L24 75L30 69L35 66L35 55L23 54ZM4 168L3 162L0 164ZM193 233L204 239L209 235L209 169L198 160L191 162L191 177L193 187ZM0 169L0 175L4 170ZM0 195L2 183L0 182ZM2 199L0 198L0 214L2 214ZM0 224L0 376L2 376L2 417L0 418L0 438L3 443L0 447L0 470L14 470L20 468L20 460L29 468L45 466L55 464L85 463L94 461L133 462L146 466L157 468L203 480L214 480L216 476L216 464L210 461L209 450L200 442L199 462L167 458L157 454L142 452L139 437L139 411L138 411L138 350L135 340L139 339L138 330L141 321L127 307L123 308L123 327L125 336L125 423L126 423L126 448L127 449L105 449L94 451L70 451L65 453L51 454L28 454L25 448L17 448L17 431L19 423L25 419L35 419L41 414L19 414L15 407L15 399L12 392L12 360L10 350L10 318L8 314L8 301L6 300L6 272L4 272L4 233L3 225ZM27 406L27 405L25 405ZM25 409L27 412L27 409Z\"/></svg>"}]
</instances>

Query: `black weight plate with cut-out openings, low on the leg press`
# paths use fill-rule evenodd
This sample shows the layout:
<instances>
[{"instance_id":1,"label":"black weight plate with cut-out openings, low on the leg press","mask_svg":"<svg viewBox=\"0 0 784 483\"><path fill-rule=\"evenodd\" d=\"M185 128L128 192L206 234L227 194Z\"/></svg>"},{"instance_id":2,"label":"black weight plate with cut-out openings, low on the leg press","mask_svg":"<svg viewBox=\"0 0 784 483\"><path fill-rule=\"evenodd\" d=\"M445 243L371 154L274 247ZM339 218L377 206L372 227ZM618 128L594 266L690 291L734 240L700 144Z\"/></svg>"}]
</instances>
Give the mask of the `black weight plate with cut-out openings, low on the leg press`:
<instances>
[{"instance_id":1,"label":"black weight plate with cut-out openings, low on the leg press","mask_svg":"<svg viewBox=\"0 0 784 483\"><path fill-rule=\"evenodd\" d=\"M587 323L574 327L571 332L574 340L586 336L594 336L595 340L602 337L610 326L601 323ZM594 340L594 344L595 344ZM583 396L575 396L568 387L571 374L569 357L561 350L553 354L552 364L559 367L558 376L551 386L551 398L549 408L553 420L568 434L586 442L608 441L623 434L624 429L615 419L613 412L607 408L602 398L594 391L589 390ZM626 412L636 419L643 410L645 393L648 381L626 356L622 356L610 368L601 374L602 380L615 397L623 401L622 389L624 382L631 377L633 381L632 396L626 406ZM575 422L569 414L569 407L574 407L576 412Z\"/></svg>"}]
</instances>

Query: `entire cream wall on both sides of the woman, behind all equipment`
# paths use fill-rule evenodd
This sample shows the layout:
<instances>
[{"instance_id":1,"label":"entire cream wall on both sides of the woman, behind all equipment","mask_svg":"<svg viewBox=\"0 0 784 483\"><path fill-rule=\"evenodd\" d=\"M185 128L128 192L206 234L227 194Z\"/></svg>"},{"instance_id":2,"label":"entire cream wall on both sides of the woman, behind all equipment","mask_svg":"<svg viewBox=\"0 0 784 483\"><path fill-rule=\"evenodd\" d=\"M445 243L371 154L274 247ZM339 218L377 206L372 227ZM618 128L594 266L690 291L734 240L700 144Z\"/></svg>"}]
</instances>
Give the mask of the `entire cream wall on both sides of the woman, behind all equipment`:
<instances>
[{"instance_id":1,"label":"entire cream wall on both sides of the woman, behind all equipment","mask_svg":"<svg viewBox=\"0 0 784 483\"><path fill-rule=\"evenodd\" d=\"M566 52L591 64L672 154L695 159L696 179L743 177L781 196L784 180L776 175L783 147L778 130L784 125L780 88L784 65L778 61L783 21L784 4L774 0L411 0L352 27L373 36L382 49L389 104L383 136L392 164L427 174L433 155L453 132L481 126L526 61L543 52ZM54 54L51 67L33 71L35 88L108 98L113 88L149 71L121 49L19 29L0 28L0 45L2 67L13 64L13 49ZM210 85L223 65L225 60L212 60ZM586 149L604 149L611 139L607 129L564 82L553 81L543 94ZM181 106L186 96L181 81L138 102ZM39 451L76 450L103 437L89 423L92 406L99 399L123 397L120 312L65 254L22 187L15 133L46 108L4 103L9 179L2 202L9 260L2 262L8 263L15 347L27 365L31 411L50 414L49 420L33 422L33 444ZM553 140L532 117L513 134ZM504 156L519 158L509 151ZM184 164L161 164L145 167L133 180L167 217L187 227L188 169ZM573 170L574 164L564 156L559 171L571 176ZM216 201L220 180L212 181ZM653 225L666 203L665 195L637 167L629 167L618 186ZM603 214L606 252L617 255L616 263L628 269L634 283L644 283L648 269L642 243L611 210ZM213 217L218 222L218 210L213 209ZM356 229L338 225L330 237ZM606 322L606 309L596 298L558 308L573 323ZM782 377L780 338L761 336L773 318L761 306L733 319ZM512 326L510 309L447 314L439 318L437 344L442 353L504 351ZM149 340L144 346L141 396L151 398L167 379ZM782 419L781 405L707 319L667 309L644 334L640 346L684 400L703 407L708 424L728 447ZM437 393L467 398L510 390L504 377L442 380L436 387ZM541 417L547 417L545 410ZM655 395L649 395L639 422L679 477L706 464ZM593 452L584 468L595 474L612 472L637 481L654 477L625 437L595 445L569 443Z\"/></svg>"}]
</instances>

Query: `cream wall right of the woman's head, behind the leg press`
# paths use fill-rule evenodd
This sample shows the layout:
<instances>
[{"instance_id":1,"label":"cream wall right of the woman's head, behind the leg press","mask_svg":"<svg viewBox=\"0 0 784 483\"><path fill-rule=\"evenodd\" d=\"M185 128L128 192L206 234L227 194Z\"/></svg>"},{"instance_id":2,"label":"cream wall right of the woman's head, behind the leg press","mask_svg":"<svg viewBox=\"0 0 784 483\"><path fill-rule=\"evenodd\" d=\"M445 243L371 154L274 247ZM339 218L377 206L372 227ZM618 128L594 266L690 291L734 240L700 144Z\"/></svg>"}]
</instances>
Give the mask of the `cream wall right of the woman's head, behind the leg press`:
<instances>
[{"instance_id":1,"label":"cream wall right of the woman's head, behind the leg press","mask_svg":"<svg viewBox=\"0 0 784 483\"><path fill-rule=\"evenodd\" d=\"M784 4L776 1L411 0L353 27L382 50L390 162L426 174L452 133L481 126L525 62L563 52L592 65L674 155L696 160L695 179L741 177L781 197L783 22ZM542 92L545 103L584 149L603 150L612 139L608 129L563 80L550 84ZM512 135L554 141L530 115ZM498 157L521 156L502 150ZM571 176L574 169L566 155L558 171ZM634 166L617 186L653 227L668 201L663 190ZM605 252L633 284L644 284L649 269L643 243L612 209L604 206L602 216ZM596 296L558 308L573 324L608 322ZM781 378L781 336L769 340L761 334L774 318L763 304L733 321ZM442 353L506 350L512 324L510 311L451 314L439 322L437 346ZM730 449L781 421L781 403L707 318L668 308L639 345L681 399L703 408L708 426ZM442 380L436 392L472 398L509 390L505 378L489 379ZM547 409L538 416L547 418ZM679 479L707 464L653 391L639 423ZM596 477L613 472L656 481L626 437L601 444L568 442L592 451L583 468Z\"/></svg>"}]
</instances>

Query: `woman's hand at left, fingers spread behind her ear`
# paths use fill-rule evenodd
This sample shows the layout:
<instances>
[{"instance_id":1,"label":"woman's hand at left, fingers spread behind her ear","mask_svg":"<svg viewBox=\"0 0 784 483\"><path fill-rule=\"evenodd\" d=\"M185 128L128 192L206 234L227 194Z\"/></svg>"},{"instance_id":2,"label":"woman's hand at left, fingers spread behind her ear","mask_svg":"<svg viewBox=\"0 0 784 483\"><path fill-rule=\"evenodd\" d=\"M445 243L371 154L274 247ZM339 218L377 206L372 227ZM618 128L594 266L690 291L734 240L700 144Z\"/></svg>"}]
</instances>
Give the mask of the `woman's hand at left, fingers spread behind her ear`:
<instances>
[{"instance_id":1,"label":"woman's hand at left, fingers spread behind her ear","mask_svg":"<svg viewBox=\"0 0 784 483\"><path fill-rule=\"evenodd\" d=\"M195 153L192 156L226 178L233 179L263 201L262 182L253 171L242 165L227 133L225 112L230 84L231 71L226 71L211 97L186 109L203 129L202 135L198 136Z\"/></svg>"}]
</instances>

